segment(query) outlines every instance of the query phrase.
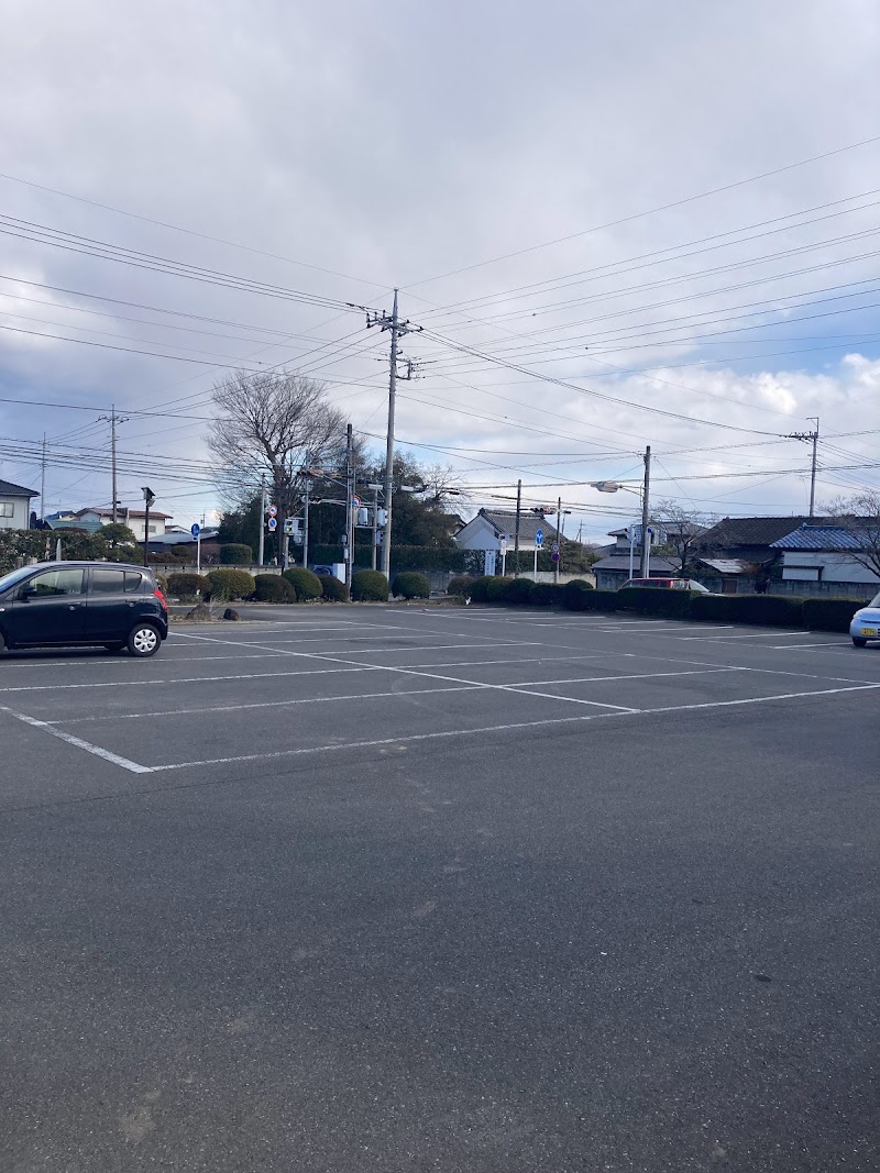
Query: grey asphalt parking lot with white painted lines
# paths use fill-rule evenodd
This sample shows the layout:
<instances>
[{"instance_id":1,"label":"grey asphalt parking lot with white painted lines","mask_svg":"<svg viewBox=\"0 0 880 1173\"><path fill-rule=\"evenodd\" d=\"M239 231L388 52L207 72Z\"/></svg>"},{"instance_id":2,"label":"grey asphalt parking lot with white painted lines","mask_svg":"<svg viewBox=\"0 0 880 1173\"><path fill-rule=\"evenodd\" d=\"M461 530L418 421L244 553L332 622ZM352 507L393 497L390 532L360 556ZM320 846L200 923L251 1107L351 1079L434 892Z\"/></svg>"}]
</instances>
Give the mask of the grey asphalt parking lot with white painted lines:
<instances>
[{"instance_id":1,"label":"grey asphalt parking lot with white painted lines","mask_svg":"<svg viewBox=\"0 0 880 1173\"><path fill-rule=\"evenodd\" d=\"M0 660L0 1168L880 1167L880 647L243 613Z\"/></svg>"}]
</instances>

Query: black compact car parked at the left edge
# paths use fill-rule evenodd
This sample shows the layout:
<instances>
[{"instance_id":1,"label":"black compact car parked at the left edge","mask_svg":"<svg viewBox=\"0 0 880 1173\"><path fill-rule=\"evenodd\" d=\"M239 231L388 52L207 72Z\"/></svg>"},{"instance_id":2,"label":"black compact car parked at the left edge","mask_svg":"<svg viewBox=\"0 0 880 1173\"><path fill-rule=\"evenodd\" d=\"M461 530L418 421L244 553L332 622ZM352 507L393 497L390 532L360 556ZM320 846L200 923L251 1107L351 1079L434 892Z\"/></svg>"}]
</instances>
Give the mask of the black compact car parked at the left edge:
<instances>
[{"instance_id":1,"label":"black compact car parked at the left edge","mask_svg":"<svg viewBox=\"0 0 880 1173\"><path fill-rule=\"evenodd\" d=\"M167 636L168 604L145 567L41 562L0 576L0 652L97 644L155 656Z\"/></svg>"}]
</instances>

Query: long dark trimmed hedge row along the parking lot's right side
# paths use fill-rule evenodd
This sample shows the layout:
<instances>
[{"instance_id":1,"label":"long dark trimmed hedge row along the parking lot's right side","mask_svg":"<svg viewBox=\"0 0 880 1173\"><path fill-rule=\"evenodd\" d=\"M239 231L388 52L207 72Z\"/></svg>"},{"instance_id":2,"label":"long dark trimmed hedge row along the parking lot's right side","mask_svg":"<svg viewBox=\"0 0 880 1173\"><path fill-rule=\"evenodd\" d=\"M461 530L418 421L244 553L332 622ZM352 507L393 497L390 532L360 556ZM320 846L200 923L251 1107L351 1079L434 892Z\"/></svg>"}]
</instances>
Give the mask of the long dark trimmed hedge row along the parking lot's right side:
<instances>
[{"instance_id":1,"label":"long dark trimmed hedge row along the parking lot's right side","mask_svg":"<svg viewBox=\"0 0 880 1173\"><path fill-rule=\"evenodd\" d=\"M575 578L564 586L529 578L453 578L451 595L476 603L560 605L568 611L629 611L636 615L706 623L751 623L760 626L803 626L814 631L848 631L853 613L865 606L857 598L792 598L787 595L692 595L690 591L642 586L594 590Z\"/></svg>"}]
</instances>

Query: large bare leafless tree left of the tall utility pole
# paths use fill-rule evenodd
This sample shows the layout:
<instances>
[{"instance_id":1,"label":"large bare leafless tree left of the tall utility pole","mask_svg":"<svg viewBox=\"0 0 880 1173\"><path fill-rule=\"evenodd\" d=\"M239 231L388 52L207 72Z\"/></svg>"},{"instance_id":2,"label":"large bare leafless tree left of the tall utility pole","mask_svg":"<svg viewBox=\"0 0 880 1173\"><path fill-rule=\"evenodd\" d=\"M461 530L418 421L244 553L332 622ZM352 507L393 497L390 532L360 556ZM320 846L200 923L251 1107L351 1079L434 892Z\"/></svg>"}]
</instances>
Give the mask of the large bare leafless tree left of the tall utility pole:
<instances>
[{"instance_id":1,"label":"large bare leafless tree left of the tall utility pole","mask_svg":"<svg viewBox=\"0 0 880 1173\"><path fill-rule=\"evenodd\" d=\"M326 401L321 384L287 373L237 371L212 391L222 413L209 447L226 486L252 494L266 479L278 508L278 533L297 509L304 465L336 468L345 454L346 420Z\"/></svg>"}]
</instances>

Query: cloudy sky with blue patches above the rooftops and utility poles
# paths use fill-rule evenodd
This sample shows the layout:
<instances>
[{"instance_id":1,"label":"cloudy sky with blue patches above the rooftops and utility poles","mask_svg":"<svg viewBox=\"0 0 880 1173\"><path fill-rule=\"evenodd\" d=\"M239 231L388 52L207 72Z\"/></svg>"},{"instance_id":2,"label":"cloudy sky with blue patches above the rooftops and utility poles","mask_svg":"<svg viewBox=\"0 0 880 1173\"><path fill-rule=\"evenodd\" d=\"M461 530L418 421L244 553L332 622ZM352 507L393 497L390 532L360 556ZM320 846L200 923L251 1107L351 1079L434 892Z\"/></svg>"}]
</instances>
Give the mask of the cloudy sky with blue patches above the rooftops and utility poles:
<instances>
[{"instance_id":1,"label":"cloudy sky with blue patches above the rooftops and utility poles","mask_svg":"<svg viewBox=\"0 0 880 1173\"><path fill-rule=\"evenodd\" d=\"M378 448L387 335L346 304L395 285L398 441L474 507L521 477L601 535L637 500L589 482L650 443L655 499L803 511L811 416L820 501L880 483L873 0L2 11L0 476L39 488L46 433L49 509L109 502L111 404L123 502L216 508L236 366Z\"/></svg>"}]
</instances>

